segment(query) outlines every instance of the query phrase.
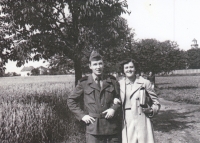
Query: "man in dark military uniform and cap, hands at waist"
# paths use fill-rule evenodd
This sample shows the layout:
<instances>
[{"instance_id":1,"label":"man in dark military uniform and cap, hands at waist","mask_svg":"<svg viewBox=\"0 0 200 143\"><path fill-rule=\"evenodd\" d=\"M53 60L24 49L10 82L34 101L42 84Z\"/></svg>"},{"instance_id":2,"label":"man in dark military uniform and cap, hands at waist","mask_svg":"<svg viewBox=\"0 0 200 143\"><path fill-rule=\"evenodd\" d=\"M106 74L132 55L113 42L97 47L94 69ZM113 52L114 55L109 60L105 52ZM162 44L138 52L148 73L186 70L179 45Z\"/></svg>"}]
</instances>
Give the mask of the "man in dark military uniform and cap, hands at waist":
<instances>
[{"instance_id":1,"label":"man in dark military uniform and cap, hands at waist","mask_svg":"<svg viewBox=\"0 0 200 143\"><path fill-rule=\"evenodd\" d=\"M113 104L114 98L120 98L119 84L115 77L103 75L104 63L98 52L93 51L89 61L92 74L79 80L68 98L69 109L85 122L87 143L119 143L121 125L116 112L120 105Z\"/></svg>"}]
</instances>

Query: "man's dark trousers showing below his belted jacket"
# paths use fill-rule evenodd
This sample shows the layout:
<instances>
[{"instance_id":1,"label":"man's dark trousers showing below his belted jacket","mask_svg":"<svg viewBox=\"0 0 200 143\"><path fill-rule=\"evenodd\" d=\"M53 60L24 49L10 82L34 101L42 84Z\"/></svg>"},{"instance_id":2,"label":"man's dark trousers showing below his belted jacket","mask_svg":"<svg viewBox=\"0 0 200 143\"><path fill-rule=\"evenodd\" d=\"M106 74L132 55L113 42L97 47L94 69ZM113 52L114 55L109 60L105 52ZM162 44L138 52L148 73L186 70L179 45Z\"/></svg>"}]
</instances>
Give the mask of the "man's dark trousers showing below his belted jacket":
<instances>
[{"instance_id":1,"label":"man's dark trousers showing below his belted jacket","mask_svg":"<svg viewBox=\"0 0 200 143\"><path fill-rule=\"evenodd\" d=\"M91 135L86 133L86 143L121 143L116 135Z\"/></svg>"}]
</instances>

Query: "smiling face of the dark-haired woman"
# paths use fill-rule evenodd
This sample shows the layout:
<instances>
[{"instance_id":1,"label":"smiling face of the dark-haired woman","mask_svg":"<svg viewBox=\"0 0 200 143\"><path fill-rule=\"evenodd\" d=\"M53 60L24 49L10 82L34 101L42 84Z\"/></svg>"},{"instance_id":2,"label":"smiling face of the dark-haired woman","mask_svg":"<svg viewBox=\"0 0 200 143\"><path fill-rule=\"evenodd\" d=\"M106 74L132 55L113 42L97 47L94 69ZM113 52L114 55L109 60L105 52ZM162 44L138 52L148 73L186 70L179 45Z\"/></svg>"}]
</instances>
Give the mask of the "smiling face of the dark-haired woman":
<instances>
[{"instance_id":1,"label":"smiling face of the dark-haired woman","mask_svg":"<svg viewBox=\"0 0 200 143\"><path fill-rule=\"evenodd\" d=\"M133 62L124 64L124 73L125 73L126 77L135 76L135 66L134 66Z\"/></svg>"}]
</instances>

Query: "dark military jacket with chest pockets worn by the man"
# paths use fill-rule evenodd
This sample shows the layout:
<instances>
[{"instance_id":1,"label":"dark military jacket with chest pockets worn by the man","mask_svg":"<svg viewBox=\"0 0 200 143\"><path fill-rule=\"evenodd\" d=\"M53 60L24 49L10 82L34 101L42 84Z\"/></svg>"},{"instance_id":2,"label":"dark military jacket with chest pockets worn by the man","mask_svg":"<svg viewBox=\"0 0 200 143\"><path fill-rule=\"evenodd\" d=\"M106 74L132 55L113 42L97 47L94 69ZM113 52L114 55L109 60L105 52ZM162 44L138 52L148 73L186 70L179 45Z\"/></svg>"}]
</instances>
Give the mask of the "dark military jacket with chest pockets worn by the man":
<instances>
[{"instance_id":1,"label":"dark military jacket with chest pockets worn by the man","mask_svg":"<svg viewBox=\"0 0 200 143\"><path fill-rule=\"evenodd\" d=\"M68 98L69 109L81 121L83 116L90 115L95 118L94 124L86 125L86 132L93 135L112 135L119 131L119 117L117 110L119 104L113 104L114 98L120 99L119 83L112 76L103 79L101 89L95 83L92 75L79 80L73 93ZM81 107L81 104L83 107ZM103 111L113 108L115 116L105 119Z\"/></svg>"}]
</instances>

